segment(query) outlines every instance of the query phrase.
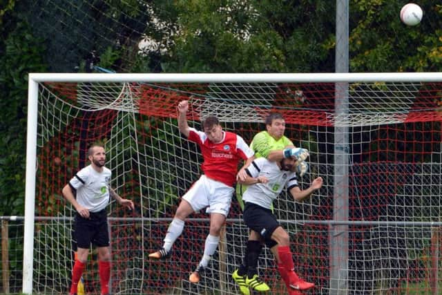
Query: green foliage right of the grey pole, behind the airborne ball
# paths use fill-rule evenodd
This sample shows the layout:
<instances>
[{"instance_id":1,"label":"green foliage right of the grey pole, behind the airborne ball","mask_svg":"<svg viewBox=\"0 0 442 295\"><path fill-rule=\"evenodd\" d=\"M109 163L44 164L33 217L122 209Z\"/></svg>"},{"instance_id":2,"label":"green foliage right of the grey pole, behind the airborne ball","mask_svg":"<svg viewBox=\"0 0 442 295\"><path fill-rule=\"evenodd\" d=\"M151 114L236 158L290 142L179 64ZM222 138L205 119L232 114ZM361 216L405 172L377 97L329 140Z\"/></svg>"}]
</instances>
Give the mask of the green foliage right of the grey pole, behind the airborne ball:
<instances>
[{"instance_id":1,"label":"green foliage right of the grey pole, behind the airborne ball","mask_svg":"<svg viewBox=\"0 0 442 295\"><path fill-rule=\"evenodd\" d=\"M424 16L417 26L399 18L403 2L350 1L352 72L429 72L442 68L441 6L420 1Z\"/></svg>"}]
</instances>

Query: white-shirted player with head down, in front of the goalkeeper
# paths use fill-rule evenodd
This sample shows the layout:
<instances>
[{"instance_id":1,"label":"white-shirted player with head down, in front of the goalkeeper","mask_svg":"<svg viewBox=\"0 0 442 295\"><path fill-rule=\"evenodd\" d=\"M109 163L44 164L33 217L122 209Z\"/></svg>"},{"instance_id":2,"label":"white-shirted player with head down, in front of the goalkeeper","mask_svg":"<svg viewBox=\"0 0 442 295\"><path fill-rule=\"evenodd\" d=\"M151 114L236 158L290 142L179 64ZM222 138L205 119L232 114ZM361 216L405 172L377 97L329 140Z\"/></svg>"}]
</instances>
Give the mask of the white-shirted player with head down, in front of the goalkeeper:
<instances>
[{"instance_id":1,"label":"white-shirted player with head down, in front of the goalkeeper","mask_svg":"<svg viewBox=\"0 0 442 295\"><path fill-rule=\"evenodd\" d=\"M249 185L243 195L245 201L243 219L251 230L248 244L258 247L261 239L265 241L275 256L278 272L290 295L300 294L299 290L314 287L314 283L305 282L294 272L289 235L273 215L271 204L286 186L291 196L297 201L311 196L314 191L322 187L323 179L320 177L313 180L308 189L301 190L298 187L295 170L302 161L302 157L298 160L296 157L287 157L280 162L270 162L265 158L258 158L247 167L246 178L239 180L240 183ZM249 266L255 264L258 256L259 251L249 251L244 257L244 264ZM245 265L240 267L243 272L244 268L247 269ZM236 273L238 274L238 271ZM233 277L235 278L235 276ZM248 278L249 275L247 275ZM249 294L248 287L253 287L247 280L246 283L247 289L240 285L242 294Z\"/></svg>"}]
</instances>

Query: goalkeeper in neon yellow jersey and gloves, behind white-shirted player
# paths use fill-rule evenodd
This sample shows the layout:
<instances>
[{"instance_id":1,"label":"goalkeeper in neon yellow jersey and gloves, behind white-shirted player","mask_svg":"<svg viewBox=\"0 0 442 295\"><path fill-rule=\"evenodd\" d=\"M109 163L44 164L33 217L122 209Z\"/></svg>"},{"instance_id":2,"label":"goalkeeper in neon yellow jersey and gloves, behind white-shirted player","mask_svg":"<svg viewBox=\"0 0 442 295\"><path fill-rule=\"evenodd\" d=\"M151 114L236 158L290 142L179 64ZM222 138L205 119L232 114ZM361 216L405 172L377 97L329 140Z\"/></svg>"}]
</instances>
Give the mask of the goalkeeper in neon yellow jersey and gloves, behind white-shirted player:
<instances>
[{"instance_id":1,"label":"goalkeeper in neon yellow jersey and gloves, behind white-shirted player","mask_svg":"<svg viewBox=\"0 0 442 295\"><path fill-rule=\"evenodd\" d=\"M280 162L284 158L292 158L295 155L301 156L303 160L307 158L308 151L305 149L296 149L293 142L284 135L285 133L285 119L280 113L269 113L265 118L266 130L257 133L251 142L251 149L255 152L256 158L266 158L271 162ZM304 175L308 170L308 164L304 161L300 161L296 166L296 170L300 175ZM249 166L248 161L242 169L238 172L238 180L245 180L247 173L245 168ZM242 204L242 193L247 187L238 182L236 196L242 209L244 210L244 204ZM272 204L271 204L272 206ZM269 249L275 245L272 240L267 247ZM242 294L249 294L249 287L252 287L255 291L265 292L269 290L269 286L260 280L258 277L258 258L262 251L262 242L255 233L251 231L249 240L247 241L247 247L244 255L244 262L239 269L236 269L232 274L233 280L239 285Z\"/></svg>"}]
</instances>

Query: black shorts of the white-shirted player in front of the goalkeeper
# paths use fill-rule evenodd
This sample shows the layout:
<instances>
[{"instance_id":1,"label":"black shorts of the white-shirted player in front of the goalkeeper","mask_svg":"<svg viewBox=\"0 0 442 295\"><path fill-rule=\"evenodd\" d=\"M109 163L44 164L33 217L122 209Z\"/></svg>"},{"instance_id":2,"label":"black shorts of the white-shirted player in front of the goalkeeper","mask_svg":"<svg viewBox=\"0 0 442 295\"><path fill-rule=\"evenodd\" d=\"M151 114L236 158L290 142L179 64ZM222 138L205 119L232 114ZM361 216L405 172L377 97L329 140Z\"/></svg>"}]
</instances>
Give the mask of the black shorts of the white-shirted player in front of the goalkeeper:
<instances>
[{"instance_id":1,"label":"black shorts of the white-shirted player in front of the goalkeeper","mask_svg":"<svg viewBox=\"0 0 442 295\"><path fill-rule=\"evenodd\" d=\"M270 239L273 231L280 227L271 209L266 209L251 202L246 202L242 218L249 229L258 232L266 240Z\"/></svg>"}]
</instances>

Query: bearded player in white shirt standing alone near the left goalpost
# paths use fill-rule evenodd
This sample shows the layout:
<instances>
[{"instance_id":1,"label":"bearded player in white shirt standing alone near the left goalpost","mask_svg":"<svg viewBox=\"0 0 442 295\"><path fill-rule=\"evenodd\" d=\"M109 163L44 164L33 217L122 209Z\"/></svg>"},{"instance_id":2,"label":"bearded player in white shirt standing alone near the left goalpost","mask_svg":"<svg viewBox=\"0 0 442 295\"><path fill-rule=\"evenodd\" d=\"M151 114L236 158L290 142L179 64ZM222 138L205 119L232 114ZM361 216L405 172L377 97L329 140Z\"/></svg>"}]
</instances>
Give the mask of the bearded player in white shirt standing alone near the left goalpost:
<instances>
[{"instance_id":1,"label":"bearded player in white shirt standing alone near the left goalpost","mask_svg":"<svg viewBox=\"0 0 442 295\"><path fill-rule=\"evenodd\" d=\"M75 214L75 240L77 260L72 271L70 295L77 294L78 282L88 260L89 248L97 246L101 294L109 294L111 278L111 250L106 207L111 196L128 209L134 209L133 202L118 196L110 187L111 170L104 166L104 146L93 144L88 149L90 164L81 169L63 188L63 196L73 205ZM77 198L74 196L76 191Z\"/></svg>"}]
</instances>

